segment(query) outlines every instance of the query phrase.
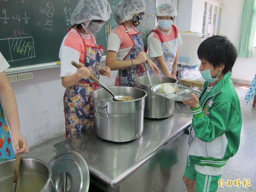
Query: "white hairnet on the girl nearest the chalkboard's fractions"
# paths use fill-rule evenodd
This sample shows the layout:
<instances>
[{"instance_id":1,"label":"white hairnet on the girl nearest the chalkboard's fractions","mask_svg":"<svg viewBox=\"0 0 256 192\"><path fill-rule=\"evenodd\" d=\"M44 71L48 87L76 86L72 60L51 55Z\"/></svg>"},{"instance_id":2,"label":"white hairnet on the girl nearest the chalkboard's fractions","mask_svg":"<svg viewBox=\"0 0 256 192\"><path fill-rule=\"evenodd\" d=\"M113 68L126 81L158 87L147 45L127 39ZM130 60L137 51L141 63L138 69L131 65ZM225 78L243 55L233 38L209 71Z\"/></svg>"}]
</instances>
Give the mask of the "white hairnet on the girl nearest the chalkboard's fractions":
<instances>
[{"instance_id":1,"label":"white hairnet on the girl nearest the chalkboard's fractions","mask_svg":"<svg viewBox=\"0 0 256 192\"><path fill-rule=\"evenodd\" d=\"M109 19L111 7L107 0L81 0L73 11L70 23L80 24L87 20Z\"/></svg>"}]
</instances>

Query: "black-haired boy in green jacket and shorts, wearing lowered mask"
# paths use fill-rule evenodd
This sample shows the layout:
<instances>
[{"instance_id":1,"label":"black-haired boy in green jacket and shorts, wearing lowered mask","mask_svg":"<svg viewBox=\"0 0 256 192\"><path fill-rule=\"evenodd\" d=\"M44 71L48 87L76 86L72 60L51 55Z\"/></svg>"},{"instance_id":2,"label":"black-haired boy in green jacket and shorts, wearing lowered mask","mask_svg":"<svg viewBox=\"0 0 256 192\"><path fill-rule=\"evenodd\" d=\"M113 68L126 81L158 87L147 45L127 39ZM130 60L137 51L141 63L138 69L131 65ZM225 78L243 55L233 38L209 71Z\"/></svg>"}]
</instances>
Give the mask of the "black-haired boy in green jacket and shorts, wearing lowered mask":
<instances>
[{"instance_id":1,"label":"black-haired boy in green jacket and shorts, wearing lowered mask","mask_svg":"<svg viewBox=\"0 0 256 192\"><path fill-rule=\"evenodd\" d=\"M198 47L200 73L206 80L198 99L183 101L193 113L183 180L188 192L215 192L224 165L239 148L241 108L230 80L237 52L225 36L214 35Z\"/></svg>"}]
</instances>

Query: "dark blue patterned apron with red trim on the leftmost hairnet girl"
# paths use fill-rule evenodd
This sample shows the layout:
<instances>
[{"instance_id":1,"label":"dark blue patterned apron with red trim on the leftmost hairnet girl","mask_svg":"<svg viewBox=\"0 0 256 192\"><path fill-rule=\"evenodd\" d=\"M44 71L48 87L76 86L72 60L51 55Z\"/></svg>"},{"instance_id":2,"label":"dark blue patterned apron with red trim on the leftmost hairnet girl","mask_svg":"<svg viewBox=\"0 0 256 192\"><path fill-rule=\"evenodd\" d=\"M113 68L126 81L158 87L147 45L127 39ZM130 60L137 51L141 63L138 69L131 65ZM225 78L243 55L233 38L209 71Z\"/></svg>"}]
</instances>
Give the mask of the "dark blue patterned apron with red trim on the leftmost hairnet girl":
<instances>
[{"instance_id":1,"label":"dark blue patterned apron with red trim on the leftmost hairnet girl","mask_svg":"<svg viewBox=\"0 0 256 192\"><path fill-rule=\"evenodd\" d=\"M80 34L80 33L79 33ZM82 38L82 37L81 37ZM100 61L104 52L102 46L87 46L84 67L99 79ZM91 93L99 89L99 85L90 79L81 79L64 94L64 113L66 123L66 138L79 134L81 131L94 127L93 100Z\"/></svg>"}]
</instances>

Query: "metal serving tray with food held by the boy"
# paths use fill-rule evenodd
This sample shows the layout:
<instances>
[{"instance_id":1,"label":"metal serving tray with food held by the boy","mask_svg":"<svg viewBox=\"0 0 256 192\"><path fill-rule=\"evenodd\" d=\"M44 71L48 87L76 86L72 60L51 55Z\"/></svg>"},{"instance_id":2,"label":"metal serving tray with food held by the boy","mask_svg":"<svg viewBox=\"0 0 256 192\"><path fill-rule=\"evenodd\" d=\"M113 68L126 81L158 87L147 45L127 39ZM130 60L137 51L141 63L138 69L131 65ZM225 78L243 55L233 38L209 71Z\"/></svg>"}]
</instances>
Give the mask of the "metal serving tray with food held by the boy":
<instances>
[{"instance_id":1,"label":"metal serving tray with food held by the boy","mask_svg":"<svg viewBox=\"0 0 256 192\"><path fill-rule=\"evenodd\" d=\"M163 86L171 86L174 89L173 93L165 93L163 91ZM173 101L184 101L187 99L192 99L191 94L195 93L196 96L198 96L198 93L184 85L181 84L175 84L175 83L162 83L162 84L157 84L151 87L151 91L154 93L166 97L168 99L171 99Z\"/></svg>"}]
</instances>

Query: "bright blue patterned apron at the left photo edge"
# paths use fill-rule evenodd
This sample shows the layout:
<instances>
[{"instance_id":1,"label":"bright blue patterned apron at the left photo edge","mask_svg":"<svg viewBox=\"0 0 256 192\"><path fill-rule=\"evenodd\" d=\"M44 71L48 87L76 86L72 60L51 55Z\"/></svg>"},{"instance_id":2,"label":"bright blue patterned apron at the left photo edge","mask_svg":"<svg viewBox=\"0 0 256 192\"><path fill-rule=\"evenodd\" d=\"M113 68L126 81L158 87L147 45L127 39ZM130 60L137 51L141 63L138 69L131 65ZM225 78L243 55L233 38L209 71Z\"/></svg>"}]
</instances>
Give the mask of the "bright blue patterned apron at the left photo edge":
<instances>
[{"instance_id":1,"label":"bright blue patterned apron at the left photo edge","mask_svg":"<svg viewBox=\"0 0 256 192\"><path fill-rule=\"evenodd\" d=\"M15 154L12 149L11 134L0 105L0 162L14 158Z\"/></svg>"}]
</instances>

